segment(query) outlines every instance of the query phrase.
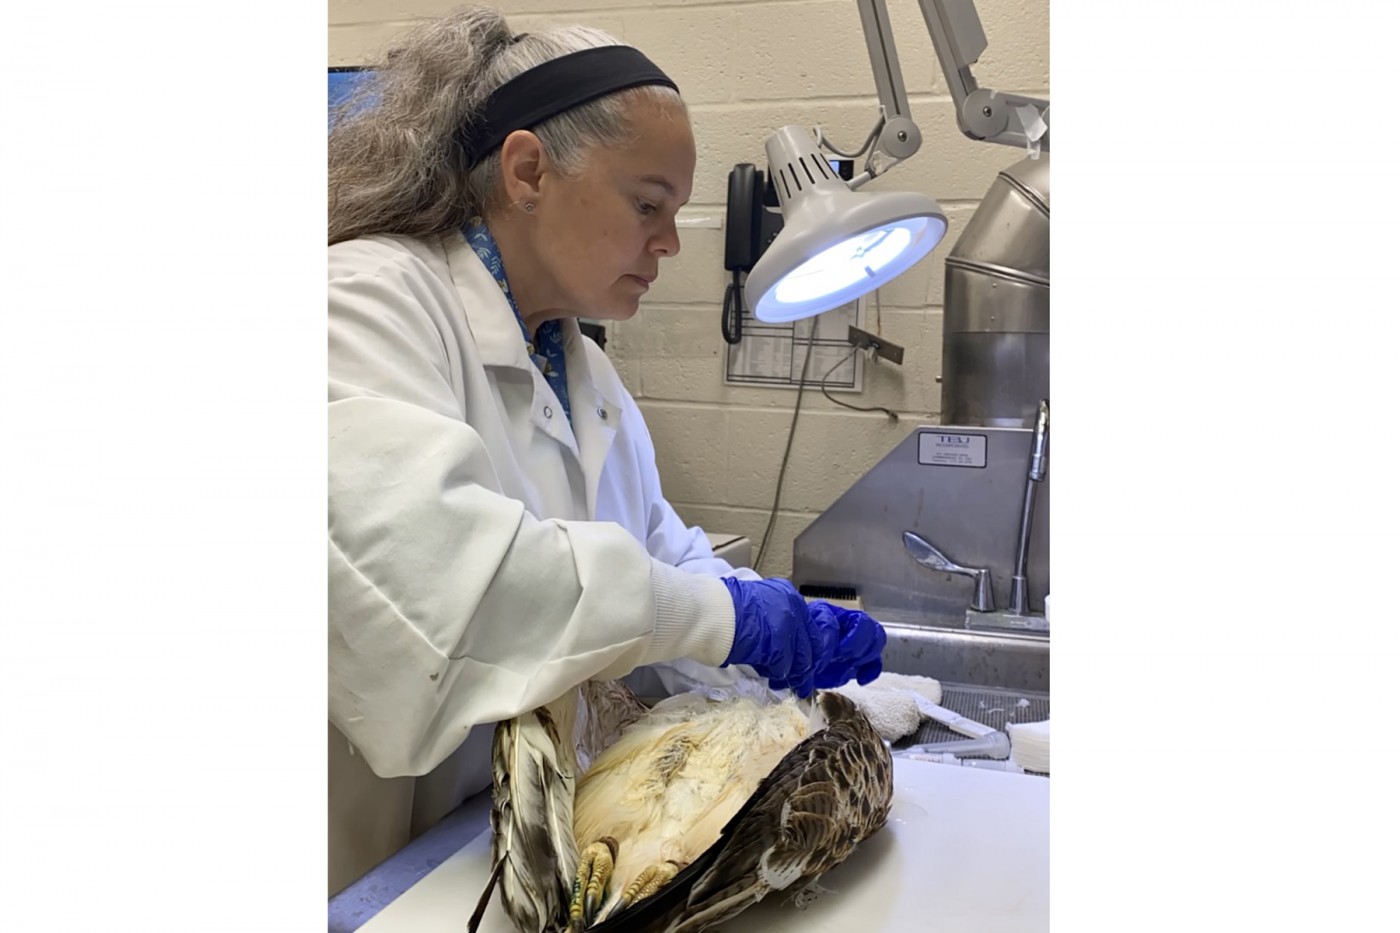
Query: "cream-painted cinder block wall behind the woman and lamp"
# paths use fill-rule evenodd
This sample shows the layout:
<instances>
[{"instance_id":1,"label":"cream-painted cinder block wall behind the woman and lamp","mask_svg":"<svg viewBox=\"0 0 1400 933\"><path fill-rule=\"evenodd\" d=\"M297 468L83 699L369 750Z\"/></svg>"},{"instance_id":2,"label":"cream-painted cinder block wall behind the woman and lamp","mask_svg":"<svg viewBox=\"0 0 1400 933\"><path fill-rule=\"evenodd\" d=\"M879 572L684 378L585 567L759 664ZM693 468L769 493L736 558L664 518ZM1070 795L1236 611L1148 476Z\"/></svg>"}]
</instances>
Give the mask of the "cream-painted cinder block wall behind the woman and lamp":
<instances>
[{"instance_id":1,"label":"cream-painted cinder block wall behind the woman and lamp","mask_svg":"<svg viewBox=\"0 0 1400 933\"><path fill-rule=\"evenodd\" d=\"M956 127L917 0L886 0L920 151L869 189L910 188L938 199L949 231L938 248L881 291L867 325L906 347L904 364L868 366L854 405L808 389L781 507L760 570L791 572L792 539L918 423L938 419L942 371L944 256L1001 168L1021 158L973 143ZM398 29L456 6L449 0L329 0L330 64L360 64ZM584 22L644 50L680 85L699 161L685 216L722 220L735 163L764 165L763 140L785 123L820 125L855 148L878 116L878 98L854 0L498 0L517 29ZM1049 95L1049 0L977 0L988 48L974 67L983 87ZM795 392L729 387L720 307L727 283L724 231L685 227L682 251L661 266L641 312L608 324L608 353L657 441L666 496L710 531L749 535L757 553L769 523Z\"/></svg>"}]
</instances>

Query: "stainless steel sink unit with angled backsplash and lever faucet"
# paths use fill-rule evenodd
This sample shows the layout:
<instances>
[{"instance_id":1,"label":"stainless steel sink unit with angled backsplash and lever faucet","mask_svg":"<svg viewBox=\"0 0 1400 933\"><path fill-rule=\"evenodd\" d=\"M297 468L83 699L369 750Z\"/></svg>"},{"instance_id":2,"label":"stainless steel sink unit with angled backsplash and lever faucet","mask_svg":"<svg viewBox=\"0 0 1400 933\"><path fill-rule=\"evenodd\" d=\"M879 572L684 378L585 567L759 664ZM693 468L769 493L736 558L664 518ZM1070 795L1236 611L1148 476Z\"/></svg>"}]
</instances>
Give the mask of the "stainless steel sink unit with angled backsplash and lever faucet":
<instances>
[{"instance_id":1,"label":"stainless steel sink unit with angled backsplash and lever faucet","mask_svg":"<svg viewBox=\"0 0 1400 933\"><path fill-rule=\"evenodd\" d=\"M794 583L851 591L886 623L888 670L1049 689L1049 630L1035 615L1050 586L1044 443L1023 427L914 429L797 537ZM1018 576L1019 618L995 611L1012 605Z\"/></svg>"}]
</instances>

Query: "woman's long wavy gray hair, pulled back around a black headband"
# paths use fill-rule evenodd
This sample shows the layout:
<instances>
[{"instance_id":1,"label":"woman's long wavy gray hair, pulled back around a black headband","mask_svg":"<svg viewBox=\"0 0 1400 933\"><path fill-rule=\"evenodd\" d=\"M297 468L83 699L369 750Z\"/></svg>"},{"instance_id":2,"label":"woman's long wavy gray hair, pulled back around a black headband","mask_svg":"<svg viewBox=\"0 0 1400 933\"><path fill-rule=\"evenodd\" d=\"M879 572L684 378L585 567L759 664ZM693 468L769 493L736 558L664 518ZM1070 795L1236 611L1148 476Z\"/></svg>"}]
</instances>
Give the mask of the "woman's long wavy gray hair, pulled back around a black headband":
<instances>
[{"instance_id":1,"label":"woman's long wavy gray hair, pulled back around a black headband","mask_svg":"<svg viewBox=\"0 0 1400 933\"><path fill-rule=\"evenodd\" d=\"M501 196L500 148L476 168L458 130L508 80L571 52L622 45L591 27L512 36L489 7L461 7L424 24L372 64L372 77L333 115L329 144L329 242L374 234L424 237L484 214ZM627 102L680 102L648 85L589 101L531 127L554 167L577 174L591 147L633 139Z\"/></svg>"}]
</instances>

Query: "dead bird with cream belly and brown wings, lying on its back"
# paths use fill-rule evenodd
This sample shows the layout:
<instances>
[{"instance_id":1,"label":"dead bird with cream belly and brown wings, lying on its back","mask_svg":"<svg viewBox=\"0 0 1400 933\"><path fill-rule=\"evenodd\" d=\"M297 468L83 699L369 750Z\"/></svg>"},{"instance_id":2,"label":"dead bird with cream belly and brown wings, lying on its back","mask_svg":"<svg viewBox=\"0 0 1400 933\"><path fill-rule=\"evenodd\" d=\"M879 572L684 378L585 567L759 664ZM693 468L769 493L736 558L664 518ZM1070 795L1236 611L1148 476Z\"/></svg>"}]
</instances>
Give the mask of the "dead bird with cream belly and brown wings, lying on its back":
<instances>
[{"instance_id":1,"label":"dead bird with cream belly and brown wings, lying on its back","mask_svg":"<svg viewBox=\"0 0 1400 933\"><path fill-rule=\"evenodd\" d=\"M885 825L889 749L847 698L588 682L496 731L491 881L521 933L693 933L804 895Z\"/></svg>"}]
</instances>

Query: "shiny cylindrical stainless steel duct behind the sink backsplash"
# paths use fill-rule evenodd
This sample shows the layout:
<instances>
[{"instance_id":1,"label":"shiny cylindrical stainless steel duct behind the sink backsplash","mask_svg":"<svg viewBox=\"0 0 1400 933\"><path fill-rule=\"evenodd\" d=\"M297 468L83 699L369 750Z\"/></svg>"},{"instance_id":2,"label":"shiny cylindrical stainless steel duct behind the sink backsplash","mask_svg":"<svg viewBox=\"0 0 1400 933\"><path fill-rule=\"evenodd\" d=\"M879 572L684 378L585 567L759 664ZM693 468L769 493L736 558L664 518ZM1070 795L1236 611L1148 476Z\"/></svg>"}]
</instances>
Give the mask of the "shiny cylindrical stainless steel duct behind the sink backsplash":
<instances>
[{"instance_id":1,"label":"shiny cylindrical stainless steel duct behind the sink backsplash","mask_svg":"<svg viewBox=\"0 0 1400 933\"><path fill-rule=\"evenodd\" d=\"M944 268L942 420L1032 427L1050 395L1050 153L997 175Z\"/></svg>"}]
</instances>

